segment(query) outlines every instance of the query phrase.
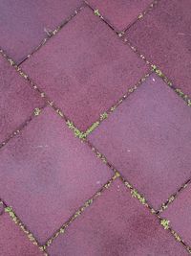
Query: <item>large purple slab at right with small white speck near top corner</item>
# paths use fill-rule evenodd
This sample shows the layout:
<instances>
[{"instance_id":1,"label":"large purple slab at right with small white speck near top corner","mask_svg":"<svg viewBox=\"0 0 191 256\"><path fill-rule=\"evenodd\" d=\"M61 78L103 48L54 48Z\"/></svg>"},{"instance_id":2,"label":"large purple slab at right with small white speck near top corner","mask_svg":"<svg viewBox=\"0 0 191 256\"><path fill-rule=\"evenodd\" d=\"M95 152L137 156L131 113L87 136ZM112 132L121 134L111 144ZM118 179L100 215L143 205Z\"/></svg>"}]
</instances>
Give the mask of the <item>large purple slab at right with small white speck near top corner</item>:
<instances>
[{"instance_id":1,"label":"large purple slab at right with small white speck near top corner","mask_svg":"<svg viewBox=\"0 0 191 256\"><path fill-rule=\"evenodd\" d=\"M191 108L153 75L90 141L155 207L191 176Z\"/></svg>"}]
</instances>

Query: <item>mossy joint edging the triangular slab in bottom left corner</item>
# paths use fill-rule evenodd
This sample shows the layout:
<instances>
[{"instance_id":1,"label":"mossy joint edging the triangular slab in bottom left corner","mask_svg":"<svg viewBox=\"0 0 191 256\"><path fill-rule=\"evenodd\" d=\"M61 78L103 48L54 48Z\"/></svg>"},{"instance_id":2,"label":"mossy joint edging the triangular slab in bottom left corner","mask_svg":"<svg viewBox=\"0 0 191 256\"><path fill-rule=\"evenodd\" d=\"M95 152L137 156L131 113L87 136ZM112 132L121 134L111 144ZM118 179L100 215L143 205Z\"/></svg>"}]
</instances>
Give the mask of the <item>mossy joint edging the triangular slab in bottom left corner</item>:
<instances>
[{"instance_id":1,"label":"mossy joint edging the triangular slab in bottom left corner","mask_svg":"<svg viewBox=\"0 0 191 256\"><path fill-rule=\"evenodd\" d=\"M25 233L28 240L36 245L38 249L43 252L44 256L48 256L48 253L44 249L44 247L38 243L37 239L33 236L32 232L28 229L28 227L18 218L18 216L15 214L14 210L11 206L8 206L8 204L0 198L0 204L3 205L3 211L0 213L0 216L2 214L8 214L11 218L11 221L13 221L19 228Z\"/></svg>"}]
</instances>

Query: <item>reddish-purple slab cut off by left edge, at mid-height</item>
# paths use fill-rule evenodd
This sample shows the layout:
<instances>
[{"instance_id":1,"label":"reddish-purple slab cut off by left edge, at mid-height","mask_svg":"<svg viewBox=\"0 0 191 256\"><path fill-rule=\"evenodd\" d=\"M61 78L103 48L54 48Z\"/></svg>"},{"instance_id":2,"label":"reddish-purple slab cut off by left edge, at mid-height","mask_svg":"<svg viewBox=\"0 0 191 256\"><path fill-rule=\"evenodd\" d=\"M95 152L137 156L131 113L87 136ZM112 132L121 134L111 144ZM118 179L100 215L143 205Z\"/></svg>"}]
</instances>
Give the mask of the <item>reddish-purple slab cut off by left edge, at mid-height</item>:
<instances>
[{"instance_id":1,"label":"reddish-purple slab cut off by left edge, at mid-height","mask_svg":"<svg viewBox=\"0 0 191 256\"><path fill-rule=\"evenodd\" d=\"M30 84L0 56L0 143L43 105Z\"/></svg>"}]
</instances>

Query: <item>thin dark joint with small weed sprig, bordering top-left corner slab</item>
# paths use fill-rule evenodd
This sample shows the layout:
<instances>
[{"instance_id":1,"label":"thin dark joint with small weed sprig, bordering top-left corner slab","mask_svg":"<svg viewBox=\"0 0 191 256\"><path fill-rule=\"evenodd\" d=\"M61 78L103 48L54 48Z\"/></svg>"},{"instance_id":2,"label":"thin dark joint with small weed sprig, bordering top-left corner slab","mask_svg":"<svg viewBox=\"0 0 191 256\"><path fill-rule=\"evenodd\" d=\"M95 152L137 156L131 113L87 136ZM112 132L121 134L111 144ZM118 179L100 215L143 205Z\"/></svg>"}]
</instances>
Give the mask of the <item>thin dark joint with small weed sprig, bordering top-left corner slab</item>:
<instances>
[{"instance_id":1,"label":"thin dark joint with small weed sprig, bordering top-left corner slab","mask_svg":"<svg viewBox=\"0 0 191 256\"><path fill-rule=\"evenodd\" d=\"M21 65L26 59L31 58L32 55L37 52L43 45L45 45L54 35L56 35L66 24L68 24L73 18L74 16L81 12L81 10L84 8L84 4L82 4L78 9L76 9L69 17L67 17L66 19L64 19L60 25L58 25L53 31L45 31L47 36L42 39L42 41L40 42L40 44L38 46L36 46L32 52L26 56L25 58L23 58L23 60L21 60L17 66Z\"/></svg>"}]
</instances>

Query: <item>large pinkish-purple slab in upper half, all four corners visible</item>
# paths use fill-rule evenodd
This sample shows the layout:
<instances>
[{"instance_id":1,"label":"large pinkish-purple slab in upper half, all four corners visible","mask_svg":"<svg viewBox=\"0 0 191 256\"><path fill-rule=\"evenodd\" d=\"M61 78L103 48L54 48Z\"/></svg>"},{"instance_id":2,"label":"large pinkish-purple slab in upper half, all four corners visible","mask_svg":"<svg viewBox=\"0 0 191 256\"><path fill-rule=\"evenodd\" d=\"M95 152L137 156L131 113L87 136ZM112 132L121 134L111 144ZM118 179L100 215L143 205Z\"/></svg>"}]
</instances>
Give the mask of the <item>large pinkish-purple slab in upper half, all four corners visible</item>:
<instances>
[{"instance_id":1,"label":"large pinkish-purple slab in upper half, all four corners visible","mask_svg":"<svg viewBox=\"0 0 191 256\"><path fill-rule=\"evenodd\" d=\"M22 68L82 130L148 72L144 61L89 8Z\"/></svg>"}]
</instances>

